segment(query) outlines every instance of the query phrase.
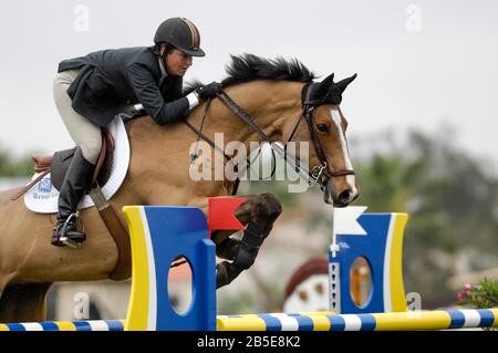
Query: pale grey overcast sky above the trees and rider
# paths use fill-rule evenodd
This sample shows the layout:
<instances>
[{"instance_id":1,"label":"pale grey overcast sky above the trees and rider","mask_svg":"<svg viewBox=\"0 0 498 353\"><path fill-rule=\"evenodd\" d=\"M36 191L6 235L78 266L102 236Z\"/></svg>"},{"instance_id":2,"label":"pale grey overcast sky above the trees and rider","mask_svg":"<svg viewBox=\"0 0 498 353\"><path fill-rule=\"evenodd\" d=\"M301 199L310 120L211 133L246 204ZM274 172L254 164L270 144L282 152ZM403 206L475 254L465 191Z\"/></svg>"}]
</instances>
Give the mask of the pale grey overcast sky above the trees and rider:
<instances>
[{"instance_id":1,"label":"pale grey overcast sky above the trees and rider","mask_svg":"<svg viewBox=\"0 0 498 353\"><path fill-rule=\"evenodd\" d=\"M52 97L63 59L152 44L187 17L206 58L186 81L225 77L230 54L297 58L344 94L350 135L455 125L457 144L498 163L498 1L7 0L0 11L0 146L20 155L73 145ZM444 133L444 132L442 132ZM351 152L354 158L354 150Z\"/></svg>"}]
</instances>

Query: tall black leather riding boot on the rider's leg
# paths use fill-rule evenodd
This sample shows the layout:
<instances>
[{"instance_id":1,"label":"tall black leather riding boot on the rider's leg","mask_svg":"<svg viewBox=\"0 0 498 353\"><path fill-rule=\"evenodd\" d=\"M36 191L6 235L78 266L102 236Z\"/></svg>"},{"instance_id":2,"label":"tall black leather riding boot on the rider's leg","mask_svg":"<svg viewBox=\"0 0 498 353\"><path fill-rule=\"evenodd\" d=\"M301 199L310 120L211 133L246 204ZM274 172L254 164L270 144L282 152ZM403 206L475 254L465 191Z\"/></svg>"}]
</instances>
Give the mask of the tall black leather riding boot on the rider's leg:
<instances>
[{"instance_id":1,"label":"tall black leather riding boot on the rider's leg","mask_svg":"<svg viewBox=\"0 0 498 353\"><path fill-rule=\"evenodd\" d=\"M59 193L58 224L52 236L56 247L81 248L86 236L77 230L77 206L92 183L94 165L87 162L76 148Z\"/></svg>"}]
</instances>

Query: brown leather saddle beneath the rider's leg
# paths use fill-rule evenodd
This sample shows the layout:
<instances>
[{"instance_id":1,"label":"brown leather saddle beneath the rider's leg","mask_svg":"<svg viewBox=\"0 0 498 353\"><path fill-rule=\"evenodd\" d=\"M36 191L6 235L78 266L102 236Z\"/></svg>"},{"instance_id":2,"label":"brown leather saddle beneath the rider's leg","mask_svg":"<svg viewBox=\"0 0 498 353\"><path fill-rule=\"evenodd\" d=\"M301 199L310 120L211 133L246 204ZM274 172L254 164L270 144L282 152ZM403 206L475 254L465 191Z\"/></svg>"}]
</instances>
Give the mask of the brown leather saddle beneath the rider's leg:
<instances>
[{"instance_id":1,"label":"brown leather saddle beneath the rider's leg","mask_svg":"<svg viewBox=\"0 0 498 353\"><path fill-rule=\"evenodd\" d=\"M113 135L105 128L102 128L102 148L98 154L97 163L93 173L92 185L105 185L111 176L111 167L114 157L115 141ZM62 181L65 173L73 159L76 147L70 149L58 150L51 156L33 155L34 172L40 175L15 194L11 200L17 200L24 195L33 185L40 181L46 174L51 173L50 179L52 185L61 190Z\"/></svg>"}]
</instances>

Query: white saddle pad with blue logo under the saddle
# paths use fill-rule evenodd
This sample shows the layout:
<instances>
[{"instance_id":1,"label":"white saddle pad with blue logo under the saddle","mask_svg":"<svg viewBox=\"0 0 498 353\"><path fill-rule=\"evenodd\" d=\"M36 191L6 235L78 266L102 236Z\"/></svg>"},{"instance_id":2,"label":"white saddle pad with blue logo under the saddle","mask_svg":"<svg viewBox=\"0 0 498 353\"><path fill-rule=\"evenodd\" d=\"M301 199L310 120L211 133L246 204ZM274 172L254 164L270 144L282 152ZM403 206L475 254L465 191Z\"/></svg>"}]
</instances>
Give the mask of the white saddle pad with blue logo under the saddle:
<instances>
[{"instance_id":1,"label":"white saddle pad with blue logo under the saddle","mask_svg":"<svg viewBox=\"0 0 498 353\"><path fill-rule=\"evenodd\" d=\"M126 135L126 128L120 115L114 117L107 128L114 136L116 143L113 165L111 167L111 177L103 187L101 186L105 198L108 200L116 194L126 177L129 164L129 142L128 136ZM31 180L37 178L38 175L39 174L33 175ZM24 194L24 205L30 210L38 214L55 214L58 212L58 198L59 190L52 185L49 173ZM92 206L94 206L93 200L89 195L85 195L81 208L83 209Z\"/></svg>"}]
</instances>

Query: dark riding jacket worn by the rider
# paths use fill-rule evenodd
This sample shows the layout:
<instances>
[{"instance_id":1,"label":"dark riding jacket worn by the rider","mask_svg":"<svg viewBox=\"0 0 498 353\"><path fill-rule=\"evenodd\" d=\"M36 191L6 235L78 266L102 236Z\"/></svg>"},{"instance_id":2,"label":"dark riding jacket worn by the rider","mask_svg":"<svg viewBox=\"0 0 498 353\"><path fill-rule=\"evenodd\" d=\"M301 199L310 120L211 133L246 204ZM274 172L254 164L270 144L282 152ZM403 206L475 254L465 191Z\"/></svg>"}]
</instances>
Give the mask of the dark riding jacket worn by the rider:
<instances>
[{"instance_id":1,"label":"dark riding jacket worn by the rider","mask_svg":"<svg viewBox=\"0 0 498 353\"><path fill-rule=\"evenodd\" d=\"M124 48L64 60L58 72L80 69L68 89L73 108L106 126L123 104L141 103L157 124L180 121L189 112L183 79L164 75L153 48Z\"/></svg>"}]
</instances>

